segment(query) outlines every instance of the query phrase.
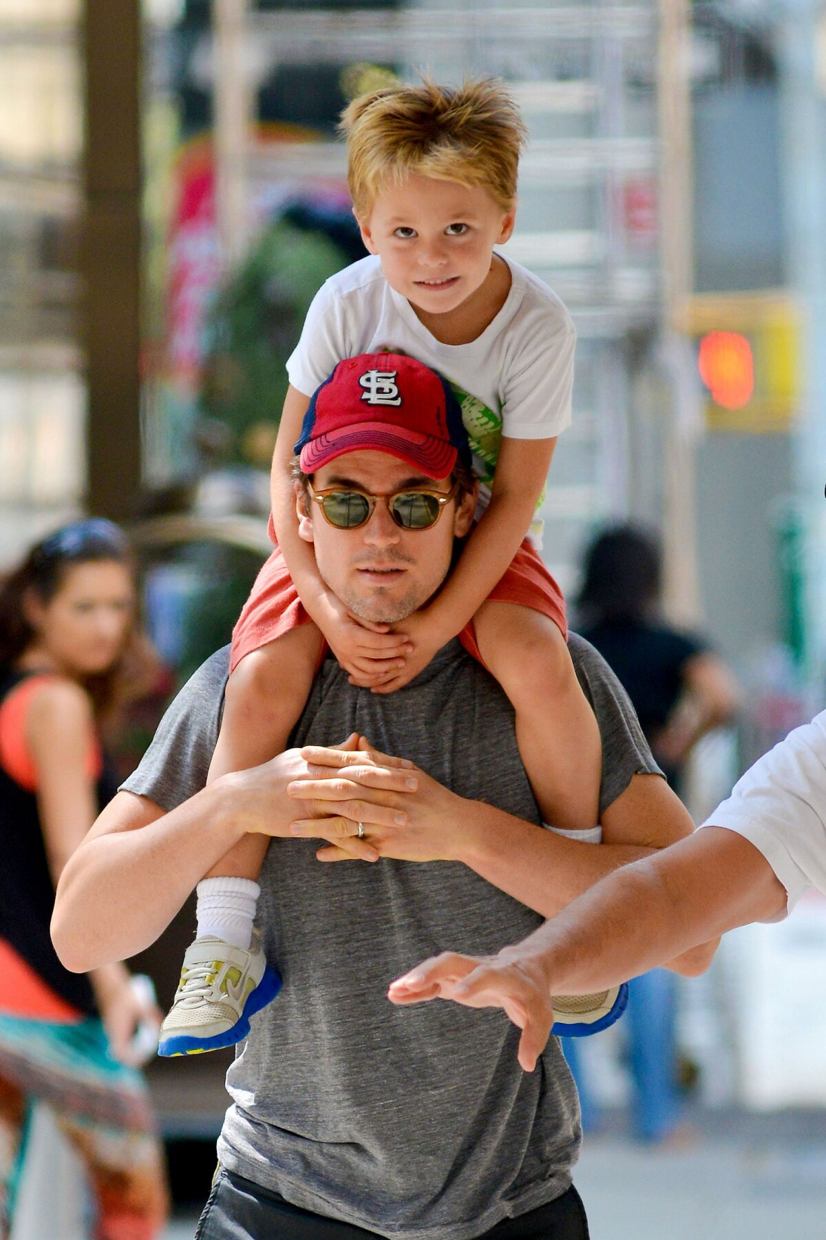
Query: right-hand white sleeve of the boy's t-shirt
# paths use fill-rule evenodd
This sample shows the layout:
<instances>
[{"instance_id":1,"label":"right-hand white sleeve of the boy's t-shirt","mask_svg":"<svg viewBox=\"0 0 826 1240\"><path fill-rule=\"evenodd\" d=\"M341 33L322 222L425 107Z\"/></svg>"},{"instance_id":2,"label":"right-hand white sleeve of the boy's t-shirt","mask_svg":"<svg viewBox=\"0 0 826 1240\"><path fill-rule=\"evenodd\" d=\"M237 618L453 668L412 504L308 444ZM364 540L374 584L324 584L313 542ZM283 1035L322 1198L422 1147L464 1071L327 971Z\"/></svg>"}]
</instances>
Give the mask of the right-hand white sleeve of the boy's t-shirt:
<instances>
[{"instance_id":1,"label":"right-hand white sleeve of the boy's t-shirt","mask_svg":"<svg viewBox=\"0 0 826 1240\"><path fill-rule=\"evenodd\" d=\"M554 439L571 425L576 329L570 316L550 324L539 315L519 341L505 377L502 433L510 439Z\"/></svg>"}]
</instances>

